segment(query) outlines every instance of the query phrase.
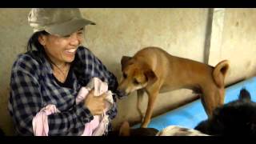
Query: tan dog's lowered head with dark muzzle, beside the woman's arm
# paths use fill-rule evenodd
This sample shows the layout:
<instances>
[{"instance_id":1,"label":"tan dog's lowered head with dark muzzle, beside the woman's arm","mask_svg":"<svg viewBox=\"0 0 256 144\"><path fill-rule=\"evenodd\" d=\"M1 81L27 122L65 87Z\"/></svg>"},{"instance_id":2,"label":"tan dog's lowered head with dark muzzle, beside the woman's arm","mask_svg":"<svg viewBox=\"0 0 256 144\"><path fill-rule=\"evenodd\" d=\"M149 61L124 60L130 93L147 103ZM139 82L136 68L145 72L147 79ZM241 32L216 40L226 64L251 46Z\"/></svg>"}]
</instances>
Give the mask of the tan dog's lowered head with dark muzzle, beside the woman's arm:
<instances>
[{"instance_id":1,"label":"tan dog's lowered head with dark muzzle, beside the woman's arm","mask_svg":"<svg viewBox=\"0 0 256 144\"><path fill-rule=\"evenodd\" d=\"M121 64L122 79L118 86L118 92L122 95L128 95L134 90L145 88L157 80L154 71L145 62L123 56Z\"/></svg>"}]
</instances>

